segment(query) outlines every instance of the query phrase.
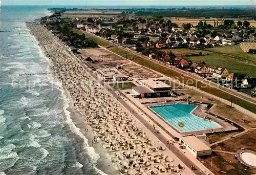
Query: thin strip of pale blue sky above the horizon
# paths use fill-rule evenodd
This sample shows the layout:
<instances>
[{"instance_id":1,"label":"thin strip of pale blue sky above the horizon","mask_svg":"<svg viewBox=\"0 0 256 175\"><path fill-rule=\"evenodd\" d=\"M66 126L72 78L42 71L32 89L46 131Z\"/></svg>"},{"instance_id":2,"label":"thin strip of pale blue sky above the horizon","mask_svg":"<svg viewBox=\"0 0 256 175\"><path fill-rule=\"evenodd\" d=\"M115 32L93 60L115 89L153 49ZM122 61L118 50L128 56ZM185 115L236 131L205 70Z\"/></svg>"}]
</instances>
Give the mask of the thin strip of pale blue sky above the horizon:
<instances>
[{"instance_id":1,"label":"thin strip of pale blue sky above the horizon","mask_svg":"<svg viewBox=\"0 0 256 175\"><path fill-rule=\"evenodd\" d=\"M1 0L0 0L1 1ZM2 0L2 5L217 6L256 5L256 0Z\"/></svg>"}]
</instances>

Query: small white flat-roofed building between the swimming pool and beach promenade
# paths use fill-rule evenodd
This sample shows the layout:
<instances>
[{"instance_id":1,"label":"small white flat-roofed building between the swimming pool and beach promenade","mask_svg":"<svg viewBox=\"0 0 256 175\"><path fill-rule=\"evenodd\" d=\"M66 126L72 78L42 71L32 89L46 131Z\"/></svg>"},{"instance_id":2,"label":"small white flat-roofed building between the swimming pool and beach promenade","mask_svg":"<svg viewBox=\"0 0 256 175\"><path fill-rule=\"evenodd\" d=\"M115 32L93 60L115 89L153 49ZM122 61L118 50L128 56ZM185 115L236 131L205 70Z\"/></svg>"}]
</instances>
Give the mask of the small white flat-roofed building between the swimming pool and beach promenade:
<instances>
[{"instance_id":1,"label":"small white flat-roofed building between the swimming pool and beach promenade","mask_svg":"<svg viewBox=\"0 0 256 175\"><path fill-rule=\"evenodd\" d=\"M211 155L212 149L196 136L180 137L180 142L195 157Z\"/></svg>"}]
</instances>

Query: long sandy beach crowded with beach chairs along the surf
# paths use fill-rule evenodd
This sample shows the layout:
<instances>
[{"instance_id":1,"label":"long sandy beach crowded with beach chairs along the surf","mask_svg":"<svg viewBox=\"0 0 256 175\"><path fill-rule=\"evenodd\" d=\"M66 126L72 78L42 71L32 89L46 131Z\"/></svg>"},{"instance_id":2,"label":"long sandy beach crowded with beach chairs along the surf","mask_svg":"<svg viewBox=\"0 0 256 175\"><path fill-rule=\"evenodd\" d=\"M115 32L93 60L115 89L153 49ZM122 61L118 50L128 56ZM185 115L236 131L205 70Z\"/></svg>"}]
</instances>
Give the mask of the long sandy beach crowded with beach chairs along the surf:
<instances>
[{"instance_id":1,"label":"long sandy beach crowded with beach chairs along the surf","mask_svg":"<svg viewBox=\"0 0 256 175\"><path fill-rule=\"evenodd\" d=\"M67 89L72 122L99 154L97 164L102 171L193 174L95 79L96 71L80 64L44 27L36 23L27 26L51 60L55 77ZM80 149L82 153L84 150Z\"/></svg>"}]
</instances>

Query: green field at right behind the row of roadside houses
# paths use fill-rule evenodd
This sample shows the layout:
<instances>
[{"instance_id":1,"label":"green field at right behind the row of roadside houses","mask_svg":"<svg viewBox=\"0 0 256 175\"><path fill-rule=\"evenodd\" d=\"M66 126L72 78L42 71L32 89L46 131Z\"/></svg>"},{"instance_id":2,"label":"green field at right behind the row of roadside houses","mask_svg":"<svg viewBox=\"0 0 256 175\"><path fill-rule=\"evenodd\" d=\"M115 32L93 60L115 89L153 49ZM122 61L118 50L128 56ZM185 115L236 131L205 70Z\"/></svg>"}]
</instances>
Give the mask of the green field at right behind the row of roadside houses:
<instances>
[{"instance_id":1,"label":"green field at right behind the row of roadside houses","mask_svg":"<svg viewBox=\"0 0 256 175\"><path fill-rule=\"evenodd\" d=\"M229 73L256 77L256 55L244 53L240 46L224 46L205 50L168 49L164 51L172 51L178 57L186 58L193 62L205 61L206 65L210 67L225 67ZM203 56L185 56L186 54L199 54L199 52L202 52ZM206 55L207 53L209 55Z\"/></svg>"}]
</instances>

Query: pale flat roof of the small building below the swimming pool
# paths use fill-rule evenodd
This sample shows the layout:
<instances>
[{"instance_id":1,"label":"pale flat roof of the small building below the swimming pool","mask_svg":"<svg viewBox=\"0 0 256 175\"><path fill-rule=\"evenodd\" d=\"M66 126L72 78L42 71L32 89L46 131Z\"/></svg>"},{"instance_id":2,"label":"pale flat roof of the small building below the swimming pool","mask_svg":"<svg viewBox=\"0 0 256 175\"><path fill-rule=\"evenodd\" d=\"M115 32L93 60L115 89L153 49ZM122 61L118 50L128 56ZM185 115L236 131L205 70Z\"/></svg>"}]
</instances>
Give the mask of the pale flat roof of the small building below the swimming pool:
<instances>
[{"instance_id":1,"label":"pale flat roof of the small building below the swimming pool","mask_svg":"<svg viewBox=\"0 0 256 175\"><path fill-rule=\"evenodd\" d=\"M203 150L211 150L209 146L203 143L196 136L186 136L186 137L181 137L180 139L197 152L203 151Z\"/></svg>"}]
</instances>

